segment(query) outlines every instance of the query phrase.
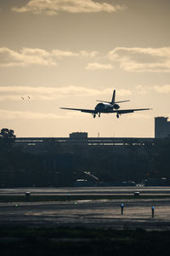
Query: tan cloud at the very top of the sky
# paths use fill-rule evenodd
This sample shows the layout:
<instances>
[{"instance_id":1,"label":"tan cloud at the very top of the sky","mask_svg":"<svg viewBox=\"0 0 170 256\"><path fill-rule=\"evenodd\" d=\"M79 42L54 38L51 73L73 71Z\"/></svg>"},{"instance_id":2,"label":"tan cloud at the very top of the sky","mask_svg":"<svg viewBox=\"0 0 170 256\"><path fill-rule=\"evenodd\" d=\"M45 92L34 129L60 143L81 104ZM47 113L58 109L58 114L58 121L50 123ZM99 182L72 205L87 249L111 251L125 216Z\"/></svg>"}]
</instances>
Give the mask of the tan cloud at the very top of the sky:
<instances>
[{"instance_id":1,"label":"tan cloud at the very top of the sky","mask_svg":"<svg viewBox=\"0 0 170 256\"><path fill-rule=\"evenodd\" d=\"M30 0L21 8L13 8L14 12L33 14L47 14L57 15L59 12L66 13L99 13L107 12L113 13L124 10L125 7L121 5L113 5L110 3L98 3L93 0Z\"/></svg>"}]
</instances>

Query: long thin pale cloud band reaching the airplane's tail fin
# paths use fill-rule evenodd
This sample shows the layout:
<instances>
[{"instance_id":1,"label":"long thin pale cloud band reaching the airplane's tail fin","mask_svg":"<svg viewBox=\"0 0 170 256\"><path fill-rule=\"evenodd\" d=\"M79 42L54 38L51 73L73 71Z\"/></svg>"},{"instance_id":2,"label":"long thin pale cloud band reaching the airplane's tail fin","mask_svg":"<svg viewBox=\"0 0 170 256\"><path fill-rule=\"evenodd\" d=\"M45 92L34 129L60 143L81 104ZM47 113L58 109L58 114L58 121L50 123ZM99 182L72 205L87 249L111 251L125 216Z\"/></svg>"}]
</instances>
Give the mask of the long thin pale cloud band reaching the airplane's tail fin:
<instances>
[{"instance_id":1,"label":"long thin pale cloud band reaching the airplane's tail fin","mask_svg":"<svg viewBox=\"0 0 170 256\"><path fill-rule=\"evenodd\" d=\"M27 96L31 96L30 101L35 100L56 100L65 96L110 96L112 94L112 88L105 88L103 90L96 90L86 87L78 87L78 86L66 86L66 87L31 87L31 86L1 86L0 87L0 101L4 100L18 100L23 101L21 96L26 98ZM129 96L131 95L130 90L116 90L116 94L118 96ZM24 102L24 101L23 101Z\"/></svg>"}]
</instances>

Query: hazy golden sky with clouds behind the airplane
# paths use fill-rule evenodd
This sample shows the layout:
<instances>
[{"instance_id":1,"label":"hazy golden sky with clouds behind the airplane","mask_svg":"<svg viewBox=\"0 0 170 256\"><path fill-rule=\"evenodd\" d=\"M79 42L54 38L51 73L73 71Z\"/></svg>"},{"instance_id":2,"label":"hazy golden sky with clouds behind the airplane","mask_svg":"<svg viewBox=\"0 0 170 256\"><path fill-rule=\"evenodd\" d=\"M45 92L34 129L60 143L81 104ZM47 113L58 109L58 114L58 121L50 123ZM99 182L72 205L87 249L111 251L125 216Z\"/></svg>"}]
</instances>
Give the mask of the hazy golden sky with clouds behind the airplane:
<instances>
[{"instance_id":1,"label":"hazy golden sky with clouds behind the airplane","mask_svg":"<svg viewBox=\"0 0 170 256\"><path fill-rule=\"evenodd\" d=\"M170 1L0 0L0 129L16 137L154 137L170 115ZM94 109L116 89L120 109Z\"/></svg>"}]
</instances>

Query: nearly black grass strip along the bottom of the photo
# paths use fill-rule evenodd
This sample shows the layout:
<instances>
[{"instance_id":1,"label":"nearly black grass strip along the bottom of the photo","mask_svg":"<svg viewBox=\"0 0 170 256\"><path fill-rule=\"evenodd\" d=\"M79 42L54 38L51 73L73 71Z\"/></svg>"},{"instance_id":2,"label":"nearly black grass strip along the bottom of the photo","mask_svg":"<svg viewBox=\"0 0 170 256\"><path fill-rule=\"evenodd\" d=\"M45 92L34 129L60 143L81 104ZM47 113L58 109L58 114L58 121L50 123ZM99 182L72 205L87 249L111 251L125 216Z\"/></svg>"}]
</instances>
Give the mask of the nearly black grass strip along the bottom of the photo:
<instances>
[{"instance_id":1,"label":"nearly black grass strip along the bottom of the photo","mask_svg":"<svg viewBox=\"0 0 170 256\"><path fill-rule=\"evenodd\" d=\"M170 231L0 227L3 255L169 255Z\"/></svg>"}]
</instances>

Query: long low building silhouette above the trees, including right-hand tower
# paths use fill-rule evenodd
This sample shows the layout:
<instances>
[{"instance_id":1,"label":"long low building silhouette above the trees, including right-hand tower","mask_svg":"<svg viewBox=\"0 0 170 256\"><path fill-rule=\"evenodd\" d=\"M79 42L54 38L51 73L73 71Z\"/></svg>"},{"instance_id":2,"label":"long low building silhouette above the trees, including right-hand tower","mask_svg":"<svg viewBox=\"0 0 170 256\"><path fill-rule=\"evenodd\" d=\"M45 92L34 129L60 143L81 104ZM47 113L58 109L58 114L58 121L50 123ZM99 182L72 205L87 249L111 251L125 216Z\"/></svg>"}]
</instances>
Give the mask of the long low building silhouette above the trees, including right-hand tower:
<instances>
[{"instance_id":1,"label":"long low building silhouette above the trees, including right-hand tower","mask_svg":"<svg viewBox=\"0 0 170 256\"><path fill-rule=\"evenodd\" d=\"M170 137L170 121L167 117L155 118L154 137L88 137L88 132L72 132L69 137L16 137L14 146L20 146L23 151L31 154L72 153L90 150L91 148L105 148L120 152L128 148L152 147L156 139Z\"/></svg>"}]
</instances>

